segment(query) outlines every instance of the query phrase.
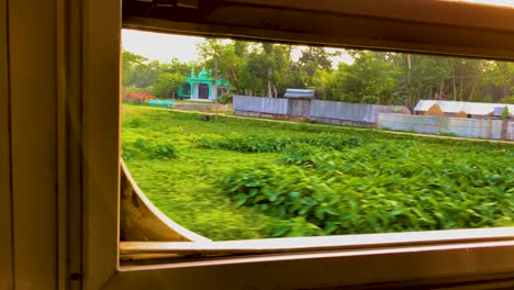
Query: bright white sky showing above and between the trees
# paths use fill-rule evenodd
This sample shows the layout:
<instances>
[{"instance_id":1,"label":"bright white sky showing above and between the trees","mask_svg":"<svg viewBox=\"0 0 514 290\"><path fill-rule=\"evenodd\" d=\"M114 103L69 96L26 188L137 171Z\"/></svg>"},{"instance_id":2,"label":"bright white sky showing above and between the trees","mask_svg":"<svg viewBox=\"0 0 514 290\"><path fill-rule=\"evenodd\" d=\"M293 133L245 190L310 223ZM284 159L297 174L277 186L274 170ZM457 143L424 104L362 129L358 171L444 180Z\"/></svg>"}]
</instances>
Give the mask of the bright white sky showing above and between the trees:
<instances>
[{"instance_id":1,"label":"bright white sky showing above and between the trees","mask_svg":"<svg viewBox=\"0 0 514 290\"><path fill-rule=\"evenodd\" d=\"M134 30L123 30L123 48L131 53L142 55L150 60L159 60L169 63L171 59L177 58L180 62L197 62L197 44L203 42L203 37L183 36L172 34L161 34L153 32L142 32ZM299 49L293 51L292 57L294 60L301 55L301 46ZM340 51L342 56L334 57L334 66L339 62L353 63L344 49L326 48L327 52Z\"/></svg>"}]
</instances>

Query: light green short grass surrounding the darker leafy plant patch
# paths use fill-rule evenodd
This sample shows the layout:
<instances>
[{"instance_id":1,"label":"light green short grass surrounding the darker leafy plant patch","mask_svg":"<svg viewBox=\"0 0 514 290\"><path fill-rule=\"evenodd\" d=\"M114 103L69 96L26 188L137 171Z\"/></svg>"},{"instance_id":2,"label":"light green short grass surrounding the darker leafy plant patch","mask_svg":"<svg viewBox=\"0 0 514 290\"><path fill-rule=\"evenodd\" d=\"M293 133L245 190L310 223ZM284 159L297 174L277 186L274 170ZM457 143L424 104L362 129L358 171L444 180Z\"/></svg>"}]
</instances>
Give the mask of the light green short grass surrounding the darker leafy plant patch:
<instances>
[{"instance_id":1,"label":"light green short grass surrounding the darker leafy plant patch","mask_svg":"<svg viewBox=\"0 0 514 290\"><path fill-rule=\"evenodd\" d=\"M138 186L170 219L214 241L273 236L277 233L270 234L269 228L280 232L283 227L280 225L290 222L255 207L238 207L234 197L220 186L220 180L248 170L255 164L286 166L281 164L282 149L289 143L302 143L316 149L332 147L345 156L386 142L404 144L407 141L423 146L434 159L438 155L444 155L446 160L455 157L465 167L468 156L485 156L488 159L479 165L489 171L495 170L492 167L512 166L514 158L513 146L507 144L415 137L304 122L233 118L202 121L197 113L123 105L123 156ZM396 153L392 149L388 154ZM382 159L387 160L387 156ZM362 164L366 168L367 164ZM512 170L514 172L514 168ZM512 174L506 176L511 177ZM290 231L292 235L320 234L320 231L304 231L312 224L300 217L293 219L292 227L300 230Z\"/></svg>"}]
</instances>

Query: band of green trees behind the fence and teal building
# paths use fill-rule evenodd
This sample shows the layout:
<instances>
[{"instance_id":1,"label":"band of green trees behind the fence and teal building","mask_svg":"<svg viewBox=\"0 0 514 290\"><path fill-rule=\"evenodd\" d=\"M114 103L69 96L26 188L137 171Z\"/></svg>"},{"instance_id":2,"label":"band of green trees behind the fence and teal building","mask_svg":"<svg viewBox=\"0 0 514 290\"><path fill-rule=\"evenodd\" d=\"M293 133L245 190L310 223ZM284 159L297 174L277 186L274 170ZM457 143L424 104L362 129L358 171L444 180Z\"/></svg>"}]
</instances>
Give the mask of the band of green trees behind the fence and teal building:
<instances>
[{"instance_id":1,"label":"band of green trees behind the fence and teal building","mask_svg":"<svg viewBox=\"0 0 514 290\"><path fill-rule=\"evenodd\" d=\"M514 64L429 55L304 47L206 38L199 62L150 62L123 52L123 86L170 98L205 68L237 94L282 97L287 88L316 89L323 100L415 105L420 99L513 103ZM299 55L298 59L293 55ZM337 62L344 55L346 63ZM351 59L353 62L348 62Z\"/></svg>"}]
</instances>

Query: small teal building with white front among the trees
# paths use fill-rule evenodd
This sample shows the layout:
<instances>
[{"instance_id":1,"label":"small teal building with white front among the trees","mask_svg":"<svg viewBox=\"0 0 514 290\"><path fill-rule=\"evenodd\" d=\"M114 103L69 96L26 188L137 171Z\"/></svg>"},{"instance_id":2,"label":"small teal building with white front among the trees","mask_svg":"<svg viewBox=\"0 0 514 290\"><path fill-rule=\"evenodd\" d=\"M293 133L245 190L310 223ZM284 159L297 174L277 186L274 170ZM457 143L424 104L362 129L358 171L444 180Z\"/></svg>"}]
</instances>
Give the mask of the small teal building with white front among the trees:
<instances>
[{"instance_id":1,"label":"small teal building with white front among the trees","mask_svg":"<svg viewBox=\"0 0 514 290\"><path fill-rule=\"evenodd\" d=\"M217 79L217 98L228 92L230 82L221 78ZM186 80L186 83L178 90L179 99L198 100L198 101L215 101L214 97L214 79L211 77L211 71L202 69L198 76L194 69L191 69L191 76Z\"/></svg>"}]
</instances>

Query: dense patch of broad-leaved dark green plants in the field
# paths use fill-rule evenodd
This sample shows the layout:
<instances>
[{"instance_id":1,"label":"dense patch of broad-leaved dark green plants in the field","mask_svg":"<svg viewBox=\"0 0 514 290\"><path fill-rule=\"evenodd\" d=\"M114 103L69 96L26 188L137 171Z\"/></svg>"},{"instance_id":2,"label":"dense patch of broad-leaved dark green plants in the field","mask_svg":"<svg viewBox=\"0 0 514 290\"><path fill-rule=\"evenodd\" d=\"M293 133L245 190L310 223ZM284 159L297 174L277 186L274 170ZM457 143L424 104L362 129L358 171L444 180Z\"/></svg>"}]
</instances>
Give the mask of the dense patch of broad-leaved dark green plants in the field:
<instances>
[{"instance_id":1,"label":"dense patch of broad-leaved dark green plants in the field","mask_svg":"<svg viewBox=\"0 0 514 290\"><path fill-rule=\"evenodd\" d=\"M297 217L324 234L514 224L514 166L494 158L434 158L417 142L389 142L343 153L299 145L280 163L236 168L219 180L236 205L290 220L265 236L291 235Z\"/></svg>"}]
</instances>

